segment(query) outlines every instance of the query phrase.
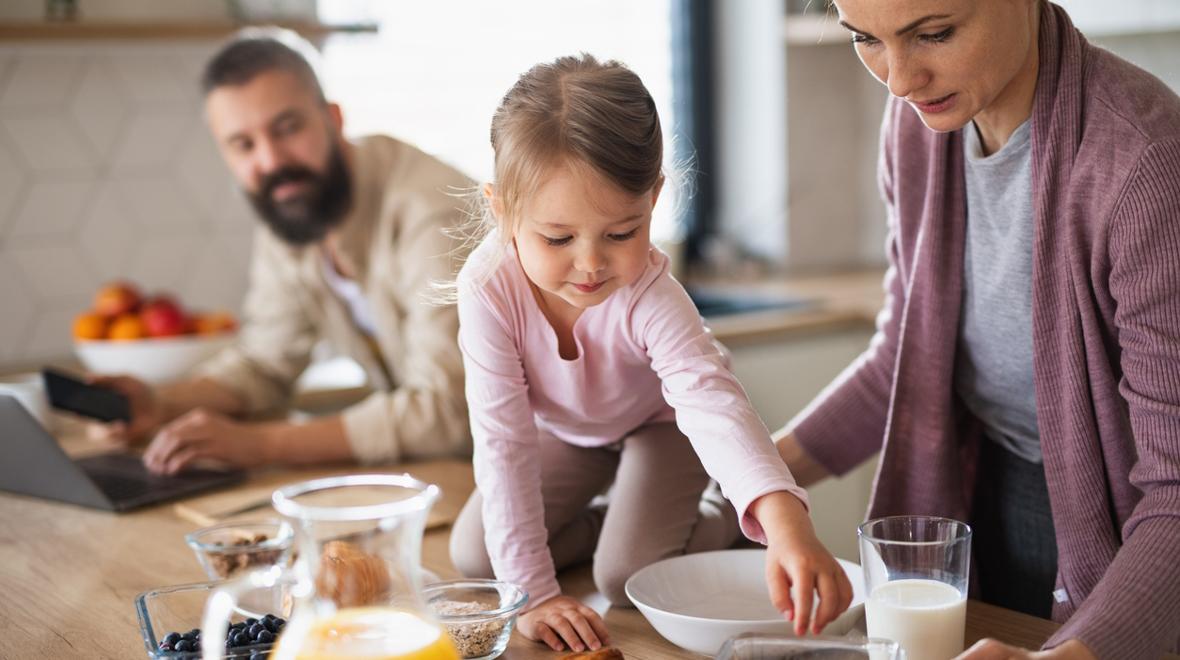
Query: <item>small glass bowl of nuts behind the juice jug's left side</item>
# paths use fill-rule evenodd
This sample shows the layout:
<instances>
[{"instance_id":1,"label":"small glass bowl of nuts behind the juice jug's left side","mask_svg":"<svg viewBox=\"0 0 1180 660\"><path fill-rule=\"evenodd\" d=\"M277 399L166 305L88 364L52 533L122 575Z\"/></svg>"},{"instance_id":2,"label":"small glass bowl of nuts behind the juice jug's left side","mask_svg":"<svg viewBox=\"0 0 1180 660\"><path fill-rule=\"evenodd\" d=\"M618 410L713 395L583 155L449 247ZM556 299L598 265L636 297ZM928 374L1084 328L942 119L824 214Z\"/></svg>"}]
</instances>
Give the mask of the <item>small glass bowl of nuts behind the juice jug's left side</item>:
<instances>
[{"instance_id":1,"label":"small glass bowl of nuts behind the juice jug's left side","mask_svg":"<svg viewBox=\"0 0 1180 660\"><path fill-rule=\"evenodd\" d=\"M184 537L210 580L270 566L289 566L294 530L278 518L206 527Z\"/></svg>"}]
</instances>

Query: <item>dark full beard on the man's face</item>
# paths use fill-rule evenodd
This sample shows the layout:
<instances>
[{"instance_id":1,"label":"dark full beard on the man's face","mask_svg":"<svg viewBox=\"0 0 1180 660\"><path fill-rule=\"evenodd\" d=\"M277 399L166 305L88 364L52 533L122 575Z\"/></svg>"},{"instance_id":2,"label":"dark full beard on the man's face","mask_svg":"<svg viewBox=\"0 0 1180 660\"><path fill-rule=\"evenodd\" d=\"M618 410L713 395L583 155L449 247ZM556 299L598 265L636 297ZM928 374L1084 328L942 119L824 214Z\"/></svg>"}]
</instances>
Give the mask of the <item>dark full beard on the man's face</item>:
<instances>
[{"instance_id":1,"label":"dark full beard on the man's face","mask_svg":"<svg viewBox=\"0 0 1180 660\"><path fill-rule=\"evenodd\" d=\"M307 182L303 192L282 202L274 198L283 183ZM254 210L276 236L293 246L319 242L340 224L353 205L348 165L340 146L333 146L323 174L288 165L267 175L257 192L247 192Z\"/></svg>"}]
</instances>

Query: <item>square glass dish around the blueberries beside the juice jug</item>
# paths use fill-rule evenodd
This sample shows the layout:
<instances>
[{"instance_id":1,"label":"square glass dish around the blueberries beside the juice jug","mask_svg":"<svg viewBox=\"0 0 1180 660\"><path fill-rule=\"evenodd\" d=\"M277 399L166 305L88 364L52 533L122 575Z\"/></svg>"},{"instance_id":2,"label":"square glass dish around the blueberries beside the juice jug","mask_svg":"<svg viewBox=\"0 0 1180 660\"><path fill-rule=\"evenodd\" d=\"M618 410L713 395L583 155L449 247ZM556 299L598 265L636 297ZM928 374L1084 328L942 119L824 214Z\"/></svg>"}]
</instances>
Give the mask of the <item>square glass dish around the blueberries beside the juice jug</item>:
<instances>
[{"instance_id":1,"label":"square glass dish around the blueberries beside the juice jug","mask_svg":"<svg viewBox=\"0 0 1180 660\"><path fill-rule=\"evenodd\" d=\"M199 660L199 651L163 651L160 642L169 633L185 634L201 627L205 610L205 600L212 595L221 582L197 582L160 587L136 596L136 614L139 615L139 632L143 635L148 658L152 660ZM286 616L284 603L290 602L284 584L270 589L249 592L242 607L230 619L230 623L244 621L248 617L262 619L266 614ZM222 642L224 643L224 641ZM266 654L270 643L254 643L225 649L225 658L250 658L253 653Z\"/></svg>"}]
</instances>

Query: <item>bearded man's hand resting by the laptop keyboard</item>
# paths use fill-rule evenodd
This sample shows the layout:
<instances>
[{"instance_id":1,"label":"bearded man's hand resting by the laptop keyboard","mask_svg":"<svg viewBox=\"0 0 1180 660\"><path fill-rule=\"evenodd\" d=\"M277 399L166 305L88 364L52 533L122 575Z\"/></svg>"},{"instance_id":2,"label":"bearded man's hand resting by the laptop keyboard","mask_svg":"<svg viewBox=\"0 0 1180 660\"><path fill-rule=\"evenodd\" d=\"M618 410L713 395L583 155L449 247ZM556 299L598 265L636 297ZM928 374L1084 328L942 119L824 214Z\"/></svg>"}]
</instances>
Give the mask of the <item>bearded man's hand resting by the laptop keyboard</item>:
<instances>
[{"instance_id":1,"label":"bearded man's hand resting by the laptop keyboard","mask_svg":"<svg viewBox=\"0 0 1180 660\"><path fill-rule=\"evenodd\" d=\"M214 459L234 468L251 468L271 460L269 436L257 424L242 424L197 409L156 433L144 465L158 475L175 475L197 459Z\"/></svg>"}]
</instances>

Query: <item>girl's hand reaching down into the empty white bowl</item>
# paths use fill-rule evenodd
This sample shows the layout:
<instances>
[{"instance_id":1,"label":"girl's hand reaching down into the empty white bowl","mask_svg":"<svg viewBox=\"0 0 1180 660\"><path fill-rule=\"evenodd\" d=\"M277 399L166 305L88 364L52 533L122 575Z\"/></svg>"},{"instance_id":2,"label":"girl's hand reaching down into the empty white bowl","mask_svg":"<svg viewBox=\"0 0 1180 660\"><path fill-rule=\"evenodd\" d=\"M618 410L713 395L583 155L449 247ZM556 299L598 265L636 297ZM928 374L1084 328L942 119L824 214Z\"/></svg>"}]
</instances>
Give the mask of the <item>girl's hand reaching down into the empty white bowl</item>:
<instances>
[{"instance_id":1,"label":"girl's hand reaching down into the empty white bowl","mask_svg":"<svg viewBox=\"0 0 1180 660\"><path fill-rule=\"evenodd\" d=\"M766 582L771 601L788 621L795 622L795 634L819 633L852 602L852 584L840 563L815 537L802 502L786 491L763 495L750 510L766 531ZM794 596L792 597L792 592ZM819 607L812 617L813 592L819 592Z\"/></svg>"}]
</instances>

